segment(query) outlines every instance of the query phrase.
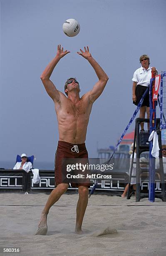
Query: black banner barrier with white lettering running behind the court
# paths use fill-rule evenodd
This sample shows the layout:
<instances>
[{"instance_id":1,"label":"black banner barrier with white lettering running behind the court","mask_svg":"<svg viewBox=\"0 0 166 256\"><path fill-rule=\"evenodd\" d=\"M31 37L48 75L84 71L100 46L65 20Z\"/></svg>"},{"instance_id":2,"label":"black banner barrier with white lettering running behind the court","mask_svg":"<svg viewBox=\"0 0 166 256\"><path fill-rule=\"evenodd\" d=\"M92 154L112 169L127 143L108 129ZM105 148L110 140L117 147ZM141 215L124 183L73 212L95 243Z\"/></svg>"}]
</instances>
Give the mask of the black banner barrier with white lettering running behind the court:
<instances>
[{"instance_id":1,"label":"black banner barrier with white lettering running behind the court","mask_svg":"<svg viewBox=\"0 0 166 256\"><path fill-rule=\"evenodd\" d=\"M107 166L106 166L107 168ZM90 178L92 189L94 183L98 181L96 192L109 192L109 195L121 195L124 191L126 184L129 181L129 175L126 172L116 172L111 171L108 174L108 170L105 172L95 171L92 178ZM52 189L55 188L55 172L53 170L40 170L40 182L38 184L33 183L32 172L27 172L23 170L0 170L0 192L48 192L50 193ZM111 178L103 177L100 174L111 175ZM97 178L98 177L98 178ZM166 174L165 174L166 181ZM140 179L141 192L147 192L149 189L149 179ZM77 188L71 187L69 183L68 191L75 190ZM156 178L155 191L157 193L161 192L161 182Z\"/></svg>"}]
</instances>

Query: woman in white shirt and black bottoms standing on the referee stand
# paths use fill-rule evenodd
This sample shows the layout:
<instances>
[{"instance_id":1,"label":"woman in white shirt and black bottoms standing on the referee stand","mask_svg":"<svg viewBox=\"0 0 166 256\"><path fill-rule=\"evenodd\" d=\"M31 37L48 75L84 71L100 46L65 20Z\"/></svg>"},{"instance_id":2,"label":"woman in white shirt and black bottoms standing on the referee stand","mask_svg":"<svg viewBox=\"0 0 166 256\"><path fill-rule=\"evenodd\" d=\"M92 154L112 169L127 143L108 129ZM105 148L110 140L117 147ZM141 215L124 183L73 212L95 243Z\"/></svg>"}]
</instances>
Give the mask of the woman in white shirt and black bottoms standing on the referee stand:
<instances>
[{"instance_id":1,"label":"woman in white shirt and black bottoms standing on the referee stand","mask_svg":"<svg viewBox=\"0 0 166 256\"><path fill-rule=\"evenodd\" d=\"M136 69L134 72L132 81L133 81L133 104L136 106L139 104L142 95L146 91L148 85L150 84L151 72L154 72L154 75L157 74L155 67L149 67L150 60L149 56L144 54L139 58L141 67ZM145 118L145 113L147 118L150 117L149 110L149 92L146 94L144 101L140 108L139 118ZM149 130L149 123L148 123ZM144 132L144 123L141 123L141 132Z\"/></svg>"}]
</instances>

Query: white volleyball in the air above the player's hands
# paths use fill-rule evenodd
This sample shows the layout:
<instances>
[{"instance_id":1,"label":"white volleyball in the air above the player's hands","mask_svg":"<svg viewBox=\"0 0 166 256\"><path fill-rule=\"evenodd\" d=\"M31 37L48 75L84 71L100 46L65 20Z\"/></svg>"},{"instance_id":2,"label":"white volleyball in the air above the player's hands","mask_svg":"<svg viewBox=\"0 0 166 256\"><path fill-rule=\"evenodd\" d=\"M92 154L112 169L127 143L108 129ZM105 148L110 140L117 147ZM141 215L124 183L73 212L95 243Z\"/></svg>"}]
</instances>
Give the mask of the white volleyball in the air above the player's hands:
<instances>
[{"instance_id":1,"label":"white volleyball in the air above the player's hands","mask_svg":"<svg viewBox=\"0 0 166 256\"><path fill-rule=\"evenodd\" d=\"M80 26L77 20L68 19L63 23L63 32L67 36L77 36L80 31Z\"/></svg>"}]
</instances>

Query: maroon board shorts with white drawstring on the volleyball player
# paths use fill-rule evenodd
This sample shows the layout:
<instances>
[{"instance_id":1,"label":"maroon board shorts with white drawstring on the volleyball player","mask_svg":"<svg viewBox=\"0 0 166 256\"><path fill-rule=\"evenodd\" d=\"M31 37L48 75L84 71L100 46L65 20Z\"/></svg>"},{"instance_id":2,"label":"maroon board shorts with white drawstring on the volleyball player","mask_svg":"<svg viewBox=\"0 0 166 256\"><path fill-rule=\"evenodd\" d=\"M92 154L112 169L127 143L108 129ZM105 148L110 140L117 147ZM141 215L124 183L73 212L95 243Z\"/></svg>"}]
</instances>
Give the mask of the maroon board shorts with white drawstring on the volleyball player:
<instances>
[{"instance_id":1,"label":"maroon board shorts with white drawstring on the volleyball player","mask_svg":"<svg viewBox=\"0 0 166 256\"><path fill-rule=\"evenodd\" d=\"M63 159L88 159L88 152L85 143L72 144L66 141L58 141L57 151L55 154L55 187L58 184L66 183L63 180L62 174L62 161ZM86 179L85 182L71 183L71 187L88 186L90 187L90 180Z\"/></svg>"}]
</instances>

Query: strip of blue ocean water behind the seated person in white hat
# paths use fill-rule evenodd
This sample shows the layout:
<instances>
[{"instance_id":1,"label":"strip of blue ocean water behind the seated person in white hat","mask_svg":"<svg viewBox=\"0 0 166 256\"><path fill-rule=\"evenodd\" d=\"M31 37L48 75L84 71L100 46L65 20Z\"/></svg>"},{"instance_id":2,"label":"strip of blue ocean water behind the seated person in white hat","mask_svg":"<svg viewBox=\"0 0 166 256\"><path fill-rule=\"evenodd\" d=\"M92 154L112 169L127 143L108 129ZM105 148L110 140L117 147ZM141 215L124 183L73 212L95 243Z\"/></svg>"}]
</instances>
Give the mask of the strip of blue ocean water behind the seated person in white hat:
<instances>
[{"instance_id":1,"label":"strip of blue ocean water behind the seated person in white hat","mask_svg":"<svg viewBox=\"0 0 166 256\"><path fill-rule=\"evenodd\" d=\"M0 161L0 168L12 169L14 166L14 161ZM54 162L39 162L34 160L33 168L40 170L54 170Z\"/></svg>"}]
</instances>

